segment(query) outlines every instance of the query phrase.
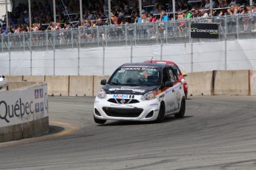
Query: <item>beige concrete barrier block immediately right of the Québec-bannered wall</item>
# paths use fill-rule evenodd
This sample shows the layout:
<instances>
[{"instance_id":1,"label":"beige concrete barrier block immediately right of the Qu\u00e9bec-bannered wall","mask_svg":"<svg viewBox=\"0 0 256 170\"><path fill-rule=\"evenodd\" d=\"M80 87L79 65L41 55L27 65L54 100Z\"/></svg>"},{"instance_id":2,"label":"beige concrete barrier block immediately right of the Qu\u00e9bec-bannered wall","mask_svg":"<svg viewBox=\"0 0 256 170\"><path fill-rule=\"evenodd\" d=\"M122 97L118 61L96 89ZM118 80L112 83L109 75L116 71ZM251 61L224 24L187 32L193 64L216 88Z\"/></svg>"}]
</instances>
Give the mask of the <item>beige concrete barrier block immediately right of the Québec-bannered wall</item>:
<instances>
[{"instance_id":1,"label":"beige concrete barrier block immediately right of the Qu\u00e9bec-bannered wall","mask_svg":"<svg viewBox=\"0 0 256 170\"><path fill-rule=\"evenodd\" d=\"M69 76L47 75L48 95L68 96Z\"/></svg>"}]
</instances>

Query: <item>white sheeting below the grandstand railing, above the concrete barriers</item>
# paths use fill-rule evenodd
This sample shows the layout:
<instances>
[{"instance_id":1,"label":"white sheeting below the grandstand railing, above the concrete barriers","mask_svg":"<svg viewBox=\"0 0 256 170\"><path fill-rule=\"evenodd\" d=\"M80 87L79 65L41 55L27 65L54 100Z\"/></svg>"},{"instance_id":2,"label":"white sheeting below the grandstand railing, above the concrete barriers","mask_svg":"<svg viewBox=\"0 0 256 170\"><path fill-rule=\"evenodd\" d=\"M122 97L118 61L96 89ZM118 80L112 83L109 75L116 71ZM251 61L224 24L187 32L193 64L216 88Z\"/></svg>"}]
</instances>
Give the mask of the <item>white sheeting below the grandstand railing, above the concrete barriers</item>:
<instances>
[{"instance_id":1,"label":"white sheeting below the grandstand railing, above the concrete barriers","mask_svg":"<svg viewBox=\"0 0 256 170\"><path fill-rule=\"evenodd\" d=\"M256 69L256 40L197 42L151 46L56 50L56 75L111 75L121 64L146 60L174 61L183 72ZM162 50L161 50L162 49ZM225 50L227 50L225 52ZM191 55L193 52L193 55ZM11 75L30 75L30 52L11 52ZM32 52L32 74L53 75L53 50ZM103 60L105 56L105 60ZM225 63L225 58L227 59ZM9 74L9 53L0 53L0 74ZM103 64L104 62L104 64Z\"/></svg>"}]
</instances>

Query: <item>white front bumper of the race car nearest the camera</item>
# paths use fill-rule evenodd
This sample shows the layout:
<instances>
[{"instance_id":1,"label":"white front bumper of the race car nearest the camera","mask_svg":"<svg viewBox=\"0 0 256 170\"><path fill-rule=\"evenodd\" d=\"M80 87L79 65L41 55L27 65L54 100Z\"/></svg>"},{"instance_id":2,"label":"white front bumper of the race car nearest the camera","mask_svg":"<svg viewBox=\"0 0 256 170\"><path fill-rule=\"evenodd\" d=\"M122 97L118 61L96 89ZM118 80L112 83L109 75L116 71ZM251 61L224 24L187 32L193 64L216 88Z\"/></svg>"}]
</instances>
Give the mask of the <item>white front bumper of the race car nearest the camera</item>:
<instances>
[{"instance_id":1,"label":"white front bumper of the race car nearest the camera","mask_svg":"<svg viewBox=\"0 0 256 170\"><path fill-rule=\"evenodd\" d=\"M134 95L132 100L114 99L113 95L107 95L107 98L95 98L94 116L103 120L156 120L160 101L157 98L153 100L142 101L142 95ZM129 102L130 101L130 102Z\"/></svg>"}]
</instances>

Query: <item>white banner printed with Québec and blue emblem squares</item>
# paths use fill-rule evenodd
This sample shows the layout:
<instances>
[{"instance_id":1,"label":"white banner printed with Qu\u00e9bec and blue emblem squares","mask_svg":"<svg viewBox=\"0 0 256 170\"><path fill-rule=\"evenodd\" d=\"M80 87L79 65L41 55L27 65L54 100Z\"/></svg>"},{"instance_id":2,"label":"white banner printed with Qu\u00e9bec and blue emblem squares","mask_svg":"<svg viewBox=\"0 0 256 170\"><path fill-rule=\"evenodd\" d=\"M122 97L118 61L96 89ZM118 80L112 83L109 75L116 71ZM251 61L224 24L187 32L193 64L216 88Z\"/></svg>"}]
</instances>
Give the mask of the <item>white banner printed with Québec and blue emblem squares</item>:
<instances>
[{"instance_id":1,"label":"white banner printed with Qu\u00e9bec and blue emblem squares","mask_svg":"<svg viewBox=\"0 0 256 170\"><path fill-rule=\"evenodd\" d=\"M48 116L47 84L0 92L0 127Z\"/></svg>"}]
</instances>

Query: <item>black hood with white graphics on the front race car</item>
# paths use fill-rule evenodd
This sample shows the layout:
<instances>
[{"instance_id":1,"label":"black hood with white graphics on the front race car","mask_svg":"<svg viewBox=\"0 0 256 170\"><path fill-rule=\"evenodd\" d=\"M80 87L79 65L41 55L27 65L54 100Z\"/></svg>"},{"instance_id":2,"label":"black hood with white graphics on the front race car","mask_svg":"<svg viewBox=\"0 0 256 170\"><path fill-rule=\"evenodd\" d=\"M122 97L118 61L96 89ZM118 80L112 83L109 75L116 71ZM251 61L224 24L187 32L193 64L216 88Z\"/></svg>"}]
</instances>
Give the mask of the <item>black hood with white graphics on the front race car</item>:
<instances>
[{"instance_id":1,"label":"black hood with white graphics on the front race car","mask_svg":"<svg viewBox=\"0 0 256 170\"><path fill-rule=\"evenodd\" d=\"M148 91L157 89L158 86L116 86L106 84L102 89L107 94L131 94L131 95L143 95Z\"/></svg>"}]
</instances>

